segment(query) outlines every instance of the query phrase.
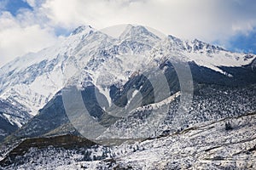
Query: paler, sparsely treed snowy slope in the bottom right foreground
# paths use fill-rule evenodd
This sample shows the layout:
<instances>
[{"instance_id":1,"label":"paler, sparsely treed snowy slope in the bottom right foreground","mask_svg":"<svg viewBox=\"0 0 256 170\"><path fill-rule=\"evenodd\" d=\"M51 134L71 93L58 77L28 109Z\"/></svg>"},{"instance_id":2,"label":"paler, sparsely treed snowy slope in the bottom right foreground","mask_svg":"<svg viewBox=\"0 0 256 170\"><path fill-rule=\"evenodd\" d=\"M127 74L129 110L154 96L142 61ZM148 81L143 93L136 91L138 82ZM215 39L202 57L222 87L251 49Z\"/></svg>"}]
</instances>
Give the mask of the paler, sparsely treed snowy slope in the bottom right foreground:
<instances>
[{"instance_id":1,"label":"paler, sparsely treed snowy slope in the bottom right foreground","mask_svg":"<svg viewBox=\"0 0 256 170\"><path fill-rule=\"evenodd\" d=\"M230 123L230 129L226 123ZM255 114L201 123L137 144L135 152L117 156L117 164L135 169L253 169L255 125Z\"/></svg>"}]
</instances>

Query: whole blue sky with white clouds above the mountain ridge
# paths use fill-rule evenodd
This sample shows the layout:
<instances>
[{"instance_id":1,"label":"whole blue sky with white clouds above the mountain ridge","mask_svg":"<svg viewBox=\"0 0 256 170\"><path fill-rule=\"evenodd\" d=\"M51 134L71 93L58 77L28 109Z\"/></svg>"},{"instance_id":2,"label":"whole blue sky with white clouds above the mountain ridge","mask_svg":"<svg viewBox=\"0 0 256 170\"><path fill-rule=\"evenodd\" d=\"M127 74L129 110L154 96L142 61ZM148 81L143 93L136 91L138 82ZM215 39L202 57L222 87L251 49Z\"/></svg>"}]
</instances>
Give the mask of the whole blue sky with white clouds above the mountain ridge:
<instances>
[{"instance_id":1,"label":"whole blue sky with white clouds above the mountain ridge","mask_svg":"<svg viewBox=\"0 0 256 170\"><path fill-rule=\"evenodd\" d=\"M119 24L256 54L255 0L0 0L0 67L78 26Z\"/></svg>"}]
</instances>

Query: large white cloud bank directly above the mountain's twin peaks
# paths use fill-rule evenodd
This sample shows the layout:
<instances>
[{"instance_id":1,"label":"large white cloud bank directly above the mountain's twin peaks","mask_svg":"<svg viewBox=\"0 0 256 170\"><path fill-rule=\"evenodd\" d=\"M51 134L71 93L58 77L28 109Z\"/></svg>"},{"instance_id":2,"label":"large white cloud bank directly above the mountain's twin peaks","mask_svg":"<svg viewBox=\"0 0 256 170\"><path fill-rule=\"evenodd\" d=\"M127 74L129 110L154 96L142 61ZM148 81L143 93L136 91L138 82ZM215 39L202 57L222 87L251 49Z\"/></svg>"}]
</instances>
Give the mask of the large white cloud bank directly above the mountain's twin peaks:
<instances>
[{"instance_id":1,"label":"large white cloud bank directly above the mountain's twin peaks","mask_svg":"<svg viewBox=\"0 0 256 170\"><path fill-rule=\"evenodd\" d=\"M253 0L47 0L43 8L54 25L63 27L136 23L177 37L212 41L250 31L255 26L255 4Z\"/></svg>"}]
</instances>

